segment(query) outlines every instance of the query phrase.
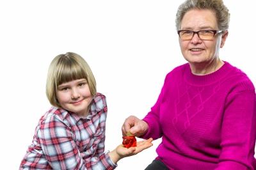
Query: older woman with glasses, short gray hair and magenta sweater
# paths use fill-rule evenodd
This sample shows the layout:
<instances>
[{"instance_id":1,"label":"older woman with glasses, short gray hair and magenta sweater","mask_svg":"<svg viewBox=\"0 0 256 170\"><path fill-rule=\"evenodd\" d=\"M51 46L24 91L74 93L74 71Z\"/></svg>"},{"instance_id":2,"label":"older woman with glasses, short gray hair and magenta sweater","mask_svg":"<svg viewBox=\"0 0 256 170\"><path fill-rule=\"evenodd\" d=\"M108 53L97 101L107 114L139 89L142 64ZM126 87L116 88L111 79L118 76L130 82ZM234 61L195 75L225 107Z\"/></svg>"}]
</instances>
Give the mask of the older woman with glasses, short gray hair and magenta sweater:
<instances>
[{"instance_id":1,"label":"older woman with glasses, short gray hair and magenta sweater","mask_svg":"<svg viewBox=\"0 0 256 170\"><path fill-rule=\"evenodd\" d=\"M230 14L221 0L187 0L176 17L188 63L166 75L151 111L123 134L162 137L146 169L254 169L256 95L245 73L219 58Z\"/></svg>"}]
</instances>

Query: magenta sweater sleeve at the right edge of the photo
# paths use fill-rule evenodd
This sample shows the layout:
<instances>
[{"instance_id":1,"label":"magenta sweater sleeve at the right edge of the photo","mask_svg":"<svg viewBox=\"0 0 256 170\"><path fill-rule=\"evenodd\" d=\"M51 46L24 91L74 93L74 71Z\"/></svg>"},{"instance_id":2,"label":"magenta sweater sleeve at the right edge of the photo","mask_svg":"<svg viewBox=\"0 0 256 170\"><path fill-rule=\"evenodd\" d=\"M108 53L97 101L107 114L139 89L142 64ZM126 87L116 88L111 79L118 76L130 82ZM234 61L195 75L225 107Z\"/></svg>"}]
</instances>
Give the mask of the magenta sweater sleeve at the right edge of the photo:
<instances>
[{"instance_id":1,"label":"magenta sweater sleeve at the right edge of the photo","mask_svg":"<svg viewBox=\"0 0 256 170\"><path fill-rule=\"evenodd\" d=\"M216 169L253 169L255 107L254 88L238 90L227 97L221 128L220 162Z\"/></svg>"}]
</instances>

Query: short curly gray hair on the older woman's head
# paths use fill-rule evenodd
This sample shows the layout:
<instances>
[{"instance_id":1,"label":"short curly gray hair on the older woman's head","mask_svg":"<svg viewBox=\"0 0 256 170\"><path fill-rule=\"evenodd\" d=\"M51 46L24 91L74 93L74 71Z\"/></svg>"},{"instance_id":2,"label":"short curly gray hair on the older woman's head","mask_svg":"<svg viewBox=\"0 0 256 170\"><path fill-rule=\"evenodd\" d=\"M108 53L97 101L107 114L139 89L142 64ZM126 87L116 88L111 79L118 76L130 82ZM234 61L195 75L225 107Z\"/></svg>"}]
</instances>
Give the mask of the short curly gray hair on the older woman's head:
<instances>
[{"instance_id":1,"label":"short curly gray hair on the older woman's head","mask_svg":"<svg viewBox=\"0 0 256 170\"><path fill-rule=\"evenodd\" d=\"M228 29L230 13L222 0L186 0L180 4L176 14L176 29L180 29L180 22L189 10L212 10L216 13L218 28L222 31Z\"/></svg>"}]
</instances>

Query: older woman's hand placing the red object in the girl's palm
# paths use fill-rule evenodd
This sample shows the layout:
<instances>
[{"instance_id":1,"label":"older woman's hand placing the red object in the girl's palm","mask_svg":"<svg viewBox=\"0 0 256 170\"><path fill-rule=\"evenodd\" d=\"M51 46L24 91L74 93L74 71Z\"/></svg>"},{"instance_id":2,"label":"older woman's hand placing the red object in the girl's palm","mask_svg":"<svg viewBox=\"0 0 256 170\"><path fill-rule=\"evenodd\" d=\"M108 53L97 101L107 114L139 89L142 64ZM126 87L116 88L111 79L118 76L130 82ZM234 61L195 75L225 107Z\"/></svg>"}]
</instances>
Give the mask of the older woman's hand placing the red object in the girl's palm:
<instances>
[{"instance_id":1,"label":"older woman's hand placing the red object in the girl's palm","mask_svg":"<svg viewBox=\"0 0 256 170\"><path fill-rule=\"evenodd\" d=\"M129 116L122 126L122 134L126 135L127 132L131 132L131 134L135 136L143 135L148 130L148 124L138 119L136 116Z\"/></svg>"}]
</instances>

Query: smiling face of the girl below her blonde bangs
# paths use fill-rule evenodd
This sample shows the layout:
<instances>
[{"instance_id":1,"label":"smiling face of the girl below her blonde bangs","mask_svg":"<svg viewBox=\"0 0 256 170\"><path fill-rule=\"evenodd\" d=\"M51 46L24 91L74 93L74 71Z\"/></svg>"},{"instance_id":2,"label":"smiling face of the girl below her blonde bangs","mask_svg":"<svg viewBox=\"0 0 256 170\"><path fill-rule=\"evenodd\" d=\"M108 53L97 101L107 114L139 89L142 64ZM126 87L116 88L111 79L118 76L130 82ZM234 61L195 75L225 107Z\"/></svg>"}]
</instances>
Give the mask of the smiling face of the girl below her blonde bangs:
<instances>
[{"instance_id":1,"label":"smiling face of the girl below her blonde bangs","mask_svg":"<svg viewBox=\"0 0 256 170\"><path fill-rule=\"evenodd\" d=\"M78 116L87 116L92 95L86 79L77 79L60 84L57 88L57 98L61 107L75 112Z\"/></svg>"}]
</instances>

